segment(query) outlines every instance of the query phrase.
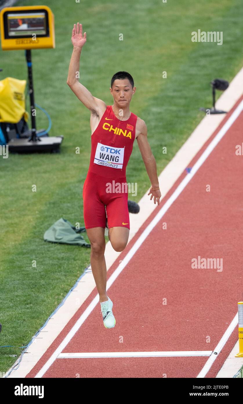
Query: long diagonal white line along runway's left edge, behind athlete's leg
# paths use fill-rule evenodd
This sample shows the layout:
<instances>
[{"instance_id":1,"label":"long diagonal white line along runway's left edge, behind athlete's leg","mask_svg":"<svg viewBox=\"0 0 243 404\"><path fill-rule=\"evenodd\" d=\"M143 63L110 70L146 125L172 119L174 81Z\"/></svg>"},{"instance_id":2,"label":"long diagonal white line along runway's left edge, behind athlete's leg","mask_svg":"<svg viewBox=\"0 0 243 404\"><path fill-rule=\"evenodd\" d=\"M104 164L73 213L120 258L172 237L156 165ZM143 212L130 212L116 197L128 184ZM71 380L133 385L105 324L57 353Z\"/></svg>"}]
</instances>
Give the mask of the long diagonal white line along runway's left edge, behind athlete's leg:
<instances>
[{"instance_id":1,"label":"long diagonal white line along runway's left edge, behind athlete's leg","mask_svg":"<svg viewBox=\"0 0 243 404\"><path fill-rule=\"evenodd\" d=\"M181 183L178 185L177 189L173 192L173 194L170 196L170 198L166 201L164 206L160 209L160 211L157 213L156 217L150 222L150 224L146 227L146 229L143 231L141 236L138 238L138 240L135 242L131 250L127 253L123 261L118 265L116 270L113 272L113 274L110 276L110 278L107 281L107 288L112 285L114 280L118 277L120 272L124 269L124 267L129 263L130 259L133 257L135 252L138 250L138 248L141 246L145 238L150 234L150 231L156 226L158 221L162 218L162 216L166 213L168 208L172 205L172 203L177 199L177 197L181 194L185 186L191 181L197 170L201 167L201 165L204 163L206 158L210 155L211 151L214 149L214 147L218 144L218 142L222 139L222 137L225 135L227 130L231 127L231 125L235 122L235 120L238 118L239 114L241 113L243 109L243 101L238 105L238 107L235 109L233 114L228 118L224 126L220 129L218 134L214 137L212 142L208 145L206 150L203 152L201 157L197 160L197 162L194 164L192 167L190 173L187 174L187 176L181 181ZM86 320L86 318L89 316L91 311L94 309L94 307L97 305L99 302L99 295L97 294L96 297L91 301L87 309L83 312L83 314L80 316L79 320L75 323L73 328L69 331L69 333L66 335L64 340L60 343L60 345L56 348L54 353L52 353L52 356L48 359L48 361L42 366L42 368L39 370L35 378L40 378L42 377L46 371L50 368L52 363L56 360L58 357L59 353L63 351L63 349L66 347L66 345L69 343L69 341L73 338L79 327L83 324L83 322Z\"/></svg>"}]
</instances>

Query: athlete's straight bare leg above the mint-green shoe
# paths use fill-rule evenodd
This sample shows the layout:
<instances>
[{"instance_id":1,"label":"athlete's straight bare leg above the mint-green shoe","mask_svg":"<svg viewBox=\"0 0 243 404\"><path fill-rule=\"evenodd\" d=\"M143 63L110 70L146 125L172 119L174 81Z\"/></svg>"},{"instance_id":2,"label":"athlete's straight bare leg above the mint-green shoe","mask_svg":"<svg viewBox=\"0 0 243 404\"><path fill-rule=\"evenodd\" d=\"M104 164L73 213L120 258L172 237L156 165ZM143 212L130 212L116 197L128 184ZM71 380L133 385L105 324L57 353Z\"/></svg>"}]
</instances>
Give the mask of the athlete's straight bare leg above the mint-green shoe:
<instances>
[{"instance_id":1,"label":"athlete's straight bare leg above the mint-green shoe","mask_svg":"<svg viewBox=\"0 0 243 404\"><path fill-rule=\"evenodd\" d=\"M96 287L100 296L100 302L108 300L106 295L106 261L104 252L106 249L105 229L94 227L86 229L91 245L90 264Z\"/></svg>"}]
</instances>

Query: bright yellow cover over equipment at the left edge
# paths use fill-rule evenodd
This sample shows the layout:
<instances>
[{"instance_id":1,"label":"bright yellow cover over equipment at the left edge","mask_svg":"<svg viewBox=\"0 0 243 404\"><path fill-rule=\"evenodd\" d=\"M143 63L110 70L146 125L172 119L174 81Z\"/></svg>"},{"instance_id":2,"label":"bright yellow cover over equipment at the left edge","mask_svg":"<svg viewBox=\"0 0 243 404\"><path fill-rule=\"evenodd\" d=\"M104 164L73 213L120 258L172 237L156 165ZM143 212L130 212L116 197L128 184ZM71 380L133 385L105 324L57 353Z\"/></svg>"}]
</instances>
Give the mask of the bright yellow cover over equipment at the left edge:
<instances>
[{"instance_id":1,"label":"bright yellow cover over equipment at the left edge","mask_svg":"<svg viewBox=\"0 0 243 404\"><path fill-rule=\"evenodd\" d=\"M25 111L26 80L6 77L0 81L0 122L17 124L24 116L28 121L29 114Z\"/></svg>"}]
</instances>

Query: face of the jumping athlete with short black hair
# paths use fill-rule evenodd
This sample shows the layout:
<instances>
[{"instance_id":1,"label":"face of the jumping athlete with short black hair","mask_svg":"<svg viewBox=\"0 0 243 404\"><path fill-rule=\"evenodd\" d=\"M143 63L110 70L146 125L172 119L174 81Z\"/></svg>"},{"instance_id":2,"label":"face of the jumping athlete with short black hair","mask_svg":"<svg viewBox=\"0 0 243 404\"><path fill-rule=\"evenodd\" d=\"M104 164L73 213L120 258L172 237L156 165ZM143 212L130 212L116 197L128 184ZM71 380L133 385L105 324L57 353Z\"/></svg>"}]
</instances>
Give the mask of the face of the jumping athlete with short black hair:
<instances>
[{"instance_id":1,"label":"face of the jumping athlete with short black hair","mask_svg":"<svg viewBox=\"0 0 243 404\"><path fill-rule=\"evenodd\" d=\"M124 80L116 79L112 88L110 88L110 93L113 95L114 102L119 105L120 108L123 108L130 104L135 90L136 87L132 88L128 78L125 78Z\"/></svg>"}]
</instances>

